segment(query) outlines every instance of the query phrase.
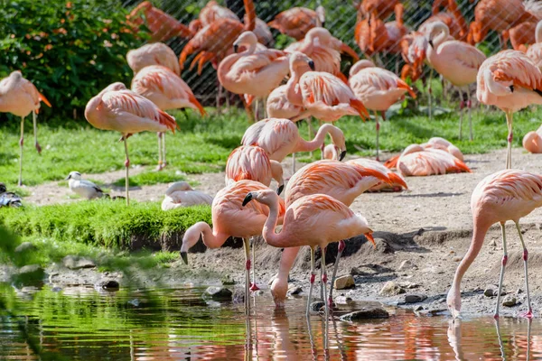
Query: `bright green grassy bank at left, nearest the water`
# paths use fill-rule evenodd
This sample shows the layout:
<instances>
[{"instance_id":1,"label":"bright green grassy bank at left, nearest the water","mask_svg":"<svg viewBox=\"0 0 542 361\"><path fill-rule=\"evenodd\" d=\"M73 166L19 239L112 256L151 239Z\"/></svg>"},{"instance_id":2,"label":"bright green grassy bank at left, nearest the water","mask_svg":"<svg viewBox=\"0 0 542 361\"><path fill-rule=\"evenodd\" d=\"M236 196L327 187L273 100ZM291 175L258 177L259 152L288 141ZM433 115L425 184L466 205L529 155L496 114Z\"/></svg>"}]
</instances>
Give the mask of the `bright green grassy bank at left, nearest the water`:
<instances>
[{"instance_id":1,"label":"bright green grassy bank at left, nearest the water","mask_svg":"<svg viewBox=\"0 0 542 361\"><path fill-rule=\"evenodd\" d=\"M61 242L125 248L133 237L158 242L184 232L198 221L210 223L210 207L176 208L164 212L158 202L99 199L51 206L1 208L0 223L20 236L47 237Z\"/></svg>"}]
</instances>

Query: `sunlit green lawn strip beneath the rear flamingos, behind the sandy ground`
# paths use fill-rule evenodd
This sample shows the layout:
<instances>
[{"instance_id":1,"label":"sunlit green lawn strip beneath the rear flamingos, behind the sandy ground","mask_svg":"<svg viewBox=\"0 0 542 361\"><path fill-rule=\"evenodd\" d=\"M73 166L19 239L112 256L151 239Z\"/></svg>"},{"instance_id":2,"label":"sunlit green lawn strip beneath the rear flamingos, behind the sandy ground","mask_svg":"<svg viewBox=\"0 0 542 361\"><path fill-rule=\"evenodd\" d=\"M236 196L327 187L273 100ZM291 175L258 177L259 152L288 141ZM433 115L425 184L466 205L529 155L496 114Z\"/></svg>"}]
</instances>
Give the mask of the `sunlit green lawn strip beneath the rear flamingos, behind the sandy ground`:
<instances>
[{"instance_id":1,"label":"sunlit green lawn strip beneath the rear flamingos, behind the sandy ground","mask_svg":"<svg viewBox=\"0 0 542 361\"><path fill-rule=\"evenodd\" d=\"M434 94L440 99L442 89L435 80ZM437 102L440 102L437 100ZM425 98L419 104L426 105ZM455 143L463 153L486 153L506 146L507 128L504 114L499 110L487 111L485 106L473 111L474 141L468 139L468 122L463 122L463 141L458 140L459 109L456 104L447 105L449 112L435 116L413 114L406 107L391 116L380 126L380 148L399 152L410 143L423 143L432 136L443 136ZM245 113L232 109L228 114L217 116L210 109L209 116L201 118L195 113L188 117L174 112L181 130L167 134L167 171L145 171L131 177L134 185L147 185L180 180L179 174L221 171L229 153L239 145L248 127ZM466 112L465 112L466 114ZM521 139L528 131L537 129L541 113L525 109L514 116L514 146L521 145ZM26 185L40 184L50 180L62 180L70 171L100 173L121 170L124 167L124 147L118 143L119 134L94 129L84 121L66 120L59 125L40 124L39 135L42 155L32 146L32 133L26 133L24 148L23 180ZM0 126L0 181L13 187L18 172L18 123L6 122ZM28 128L32 129L30 121ZM343 130L349 153L374 155L375 124L363 123L359 118L344 117L336 123ZM307 137L306 125L300 132ZM329 139L328 139L329 142ZM133 165L151 165L157 162L156 135L135 134L128 139L130 160ZM318 154L314 155L317 157ZM124 180L115 184L121 185Z\"/></svg>"}]
</instances>

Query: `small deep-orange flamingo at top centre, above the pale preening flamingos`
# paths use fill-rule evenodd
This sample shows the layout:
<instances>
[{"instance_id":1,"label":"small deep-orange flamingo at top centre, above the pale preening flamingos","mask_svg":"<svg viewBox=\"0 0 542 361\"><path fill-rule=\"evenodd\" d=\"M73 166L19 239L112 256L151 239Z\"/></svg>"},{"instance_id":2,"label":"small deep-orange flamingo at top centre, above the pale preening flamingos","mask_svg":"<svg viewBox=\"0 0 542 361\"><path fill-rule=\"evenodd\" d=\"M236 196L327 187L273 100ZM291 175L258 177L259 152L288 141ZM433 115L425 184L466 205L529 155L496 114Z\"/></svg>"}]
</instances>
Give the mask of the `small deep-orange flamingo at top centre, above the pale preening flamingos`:
<instances>
[{"instance_id":1,"label":"small deep-orange flamingo at top centre, above the pale preening flamingos","mask_svg":"<svg viewBox=\"0 0 542 361\"><path fill-rule=\"evenodd\" d=\"M324 22L325 11L322 6L318 6L316 11L306 7L293 7L277 14L267 25L295 40L301 40L313 27L323 26Z\"/></svg>"}]
</instances>

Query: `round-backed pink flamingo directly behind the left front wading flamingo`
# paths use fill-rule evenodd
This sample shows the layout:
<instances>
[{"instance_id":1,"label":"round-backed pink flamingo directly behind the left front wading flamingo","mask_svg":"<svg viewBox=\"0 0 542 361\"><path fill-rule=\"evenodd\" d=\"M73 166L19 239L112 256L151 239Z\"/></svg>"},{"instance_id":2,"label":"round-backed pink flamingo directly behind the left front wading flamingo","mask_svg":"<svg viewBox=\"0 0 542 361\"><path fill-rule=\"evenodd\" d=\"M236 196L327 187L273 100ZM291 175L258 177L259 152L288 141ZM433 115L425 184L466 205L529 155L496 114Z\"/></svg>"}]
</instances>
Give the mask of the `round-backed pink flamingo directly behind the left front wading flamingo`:
<instances>
[{"instance_id":1,"label":"round-backed pink flamingo directly behind the left front wading flamingo","mask_svg":"<svg viewBox=\"0 0 542 361\"><path fill-rule=\"evenodd\" d=\"M267 187L274 179L278 183L277 194L285 188L280 163L270 160L266 151L255 145L241 145L229 154L225 179L227 185L238 180L256 180Z\"/></svg>"}]
</instances>

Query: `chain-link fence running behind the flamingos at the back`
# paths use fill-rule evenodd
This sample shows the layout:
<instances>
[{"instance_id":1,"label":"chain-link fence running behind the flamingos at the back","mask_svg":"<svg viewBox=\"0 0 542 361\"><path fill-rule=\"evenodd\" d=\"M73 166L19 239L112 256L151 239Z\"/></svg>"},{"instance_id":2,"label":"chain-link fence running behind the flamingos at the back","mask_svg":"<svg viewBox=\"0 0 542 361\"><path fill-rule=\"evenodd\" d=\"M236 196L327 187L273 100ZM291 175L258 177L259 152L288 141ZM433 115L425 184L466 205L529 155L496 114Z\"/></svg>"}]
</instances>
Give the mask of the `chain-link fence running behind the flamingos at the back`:
<instances>
[{"instance_id":1,"label":"chain-link fence running behind the flamingos at the back","mask_svg":"<svg viewBox=\"0 0 542 361\"><path fill-rule=\"evenodd\" d=\"M403 34L416 31L425 22L430 22L433 17L437 17L444 22L452 22L450 25L452 33L461 40L467 41L469 34L469 24L475 20L475 9L477 6L480 9L476 10L476 19L479 17L482 19L479 32L487 32L481 42L477 45L481 51L486 55L490 55L499 51L502 47L502 30L511 28L511 25L515 26L515 23L520 23L522 20L529 20L528 16L523 16L521 11L524 11L525 6L520 0L493 0L493 2L501 3L500 7L495 6L491 9L493 13L490 14L492 19L488 20L486 15L482 18L481 10L483 10L484 4L488 3L486 0L455 0L453 2L449 0L404 0L400 4L403 6L402 21L404 28L400 29L401 33L397 32L397 26L395 23L397 9L395 5L399 3L397 0L360 0L360 3L350 1L338 1L338 0L320 0L320 1L307 1L307 0L286 0L286 1L258 1L255 0L256 14L259 19L268 23L276 17L282 11L290 9L294 6L303 6L309 9L316 9L317 6L322 6L325 10L325 23L324 27L327 28L332 34L341 39L342 42L350 45L352 49L358 52L360 58L369 57L375 61L379 66L385 67L391 71L400 74L401 69L406 63L406 59L401 55L400 40ZM131 10L140 3L140 0L126 0L124 6ZM180 23L188 25L192 20L197 19L201 8L208 3L208 0L155 0L153 5L156 8L161 9L166 14L170 14L173 18L177 19ZM388 7L388 14L378 14L378 11L371 12L371 3L382 3L385 7ZM452 4L453 3L453 4ZM537 1L527 0L527 8L530 6L537 7L539 5ZM223 0L219 1L220 5L227 6L239 19L243 19L244 7L242 0ZM380 4L380 5L382 5ZM367 8L369 8L369 14L367 14ZM396 11L394 11L396 10ZM478 14L480 13L480 14ZM535 12L533 12L535 13ZM400 15L400 14L398 14ZM360 43L356 41L354 32L356 25L359 22L368 22L373 16L374 21L380 19L385 23L385 27L380 27L381 31L373 35L372 41L378 43L382 38L387 37L388 45L381 49L374 49L371 51L368 47L365 47L363 51L360 49ZM523 16L523 17L522 17ZM507 19L508 17L508 19ZM535 15L536 19L537 16ZM463 18L463 20L461 19ZM504 19L504 20L503 20ZM497 25L495 25L497 23ZM461 28L463 24L463 28ZM457 27L460 27L459 30ZM453 29L452 29L453 28ZM461 31L461 35L458 32ZM275 29L271 29L274 42L272 45L276 49L284 49L289 43L294 42L293 38L281 34ZM393 42L389 42L389 39L395 39ZM534 39L534 33L532 34ZM179 55L182 48L188 39L173 38L166 43ZM196 97L198 97L203 104L214 104L217 98L218 92L218 79L216 70L213 69L210 64L207 64L203 69L201 75L197 74L196 69L190 70L189 64L193 57L189 58L185 64L185 68L182 71L182 79L184 79L192 88ZM342 70L345 74L348 74L348 69L351 65L351 60L343 57ZM428 69L423 70L424 73ZM229 97L228 99L226 97ZM222 97L221 102L238 99L232 95L226 95Z\"/></svg>"}]
</instances>

